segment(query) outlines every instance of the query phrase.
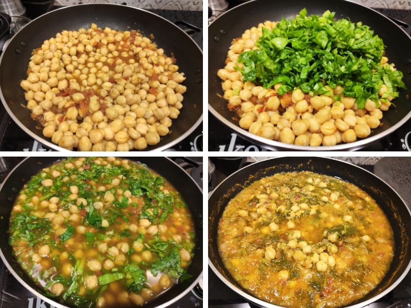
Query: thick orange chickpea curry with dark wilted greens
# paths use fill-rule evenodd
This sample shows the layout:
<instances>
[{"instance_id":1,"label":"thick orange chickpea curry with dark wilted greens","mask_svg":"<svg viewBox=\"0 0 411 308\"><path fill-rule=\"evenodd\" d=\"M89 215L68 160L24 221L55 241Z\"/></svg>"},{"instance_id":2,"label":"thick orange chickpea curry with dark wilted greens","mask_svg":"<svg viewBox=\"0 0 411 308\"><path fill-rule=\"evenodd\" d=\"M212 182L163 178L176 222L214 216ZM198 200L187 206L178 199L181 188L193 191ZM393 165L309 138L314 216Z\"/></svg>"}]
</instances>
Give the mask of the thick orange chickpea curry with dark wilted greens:
<instances>
[{"instance_id":1,"label":"thick orange chickpea curry with dark wilted greens","mask_svg":"<svg viewBox=\"0 0 411 308\"><path fill-rule=\"evenodd\" d=\"M219 222L218 249L249 293L286 307L338 307L384 278L393 230L357 186L313 172L279 173L239 192Z\"/></svg>"}]
</instances>

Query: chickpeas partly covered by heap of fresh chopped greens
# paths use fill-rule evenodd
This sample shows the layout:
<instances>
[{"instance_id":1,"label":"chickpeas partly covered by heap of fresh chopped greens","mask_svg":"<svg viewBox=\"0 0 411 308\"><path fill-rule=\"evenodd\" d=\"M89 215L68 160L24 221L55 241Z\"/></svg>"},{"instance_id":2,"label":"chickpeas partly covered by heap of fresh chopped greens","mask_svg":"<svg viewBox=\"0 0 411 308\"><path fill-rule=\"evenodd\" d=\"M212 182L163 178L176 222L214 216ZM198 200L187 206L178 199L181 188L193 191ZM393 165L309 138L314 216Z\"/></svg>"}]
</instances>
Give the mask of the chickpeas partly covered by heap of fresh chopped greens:
<instances>
[{"instance_id":1,"label":"chickpeas partly covered by heap of fresh chopped greens","mask_svg":"<svg viewBox=\"0 0 411 308\"><path fill-rule=\"evenodd\" d=\"M326 95L310 96L301 89L294 89L278 96L278 83L272 89L265 89L253 82L243 82L242 74L236 67L241 52L258 49L256 42L262 35L263 27L275 28L276 23L267 21L258 27L246 30L241 37L233 41L227 56L227 65L217 74L222 82L223 98L228 101L230 110L240 115L239 126L257 136L288 144L302 146L334 146L339 143L354 142L357 138L366 138L371 129L381 125L382 111L388 110L388 102L376 103L367 100L364 109L359 109L354 98L343 97L343 87L337 86L331 97ZM387 57L381 63L388 64ZM387 91L382 85L380 97ZM341 95L340 101L334 101L334 95Z\"/></svg>"}]
</instances>

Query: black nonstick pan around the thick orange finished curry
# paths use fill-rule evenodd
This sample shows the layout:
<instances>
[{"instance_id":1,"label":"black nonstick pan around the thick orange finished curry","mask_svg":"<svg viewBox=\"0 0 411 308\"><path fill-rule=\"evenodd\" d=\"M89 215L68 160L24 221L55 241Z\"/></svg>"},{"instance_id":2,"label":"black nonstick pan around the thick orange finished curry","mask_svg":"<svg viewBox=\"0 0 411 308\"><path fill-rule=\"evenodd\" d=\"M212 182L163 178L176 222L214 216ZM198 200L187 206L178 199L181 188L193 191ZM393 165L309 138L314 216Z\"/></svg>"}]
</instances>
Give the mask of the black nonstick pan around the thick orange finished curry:
<instances>
[{"instance_id":1,"label":"black nonstick pan around the thick orange finished curry","mask_svg":"<svg viewBox=\"0 0 411 308\"><path fill-rule=\"evenodd\" d=\"M282 157L261 161L242 168L216 187L209 198L209 265L213 272L233 291L248 301L261 306L278 307L266 303L242 288L224 266L217 246L219 219L228 202L244 187L278 172L313 171L357 185L365 190L384 210L394 231L394 258L381 283L365 297L344 307L364 307L393 290L411 267L411 212L404 200L387 183L371 172L339 160L318 157Z\"/></svg>"}]
</instances>

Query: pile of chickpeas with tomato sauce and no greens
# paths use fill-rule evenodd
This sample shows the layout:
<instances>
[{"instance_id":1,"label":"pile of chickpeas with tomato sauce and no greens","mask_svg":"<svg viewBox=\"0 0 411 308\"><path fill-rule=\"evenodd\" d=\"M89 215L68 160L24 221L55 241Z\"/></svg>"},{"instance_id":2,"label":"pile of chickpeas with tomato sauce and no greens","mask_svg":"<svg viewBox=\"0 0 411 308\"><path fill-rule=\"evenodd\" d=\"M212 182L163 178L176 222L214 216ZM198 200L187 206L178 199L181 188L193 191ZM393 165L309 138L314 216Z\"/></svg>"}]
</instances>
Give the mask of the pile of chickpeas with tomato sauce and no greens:
<instances>
[{"instance_id":1,"label":"pile of chickpeas with tomato sauce and no greens","mask_svg":"<svg viewBox=\"0 0 411 308\"><path fill-rule=\"evenodd\" d=\"M171 133L184 73L150 38L132 31L62 31L33 51L21 82L43 134L66 149L144 150Z\"/></svg>"}]
</instances>

